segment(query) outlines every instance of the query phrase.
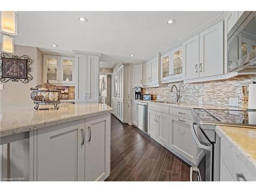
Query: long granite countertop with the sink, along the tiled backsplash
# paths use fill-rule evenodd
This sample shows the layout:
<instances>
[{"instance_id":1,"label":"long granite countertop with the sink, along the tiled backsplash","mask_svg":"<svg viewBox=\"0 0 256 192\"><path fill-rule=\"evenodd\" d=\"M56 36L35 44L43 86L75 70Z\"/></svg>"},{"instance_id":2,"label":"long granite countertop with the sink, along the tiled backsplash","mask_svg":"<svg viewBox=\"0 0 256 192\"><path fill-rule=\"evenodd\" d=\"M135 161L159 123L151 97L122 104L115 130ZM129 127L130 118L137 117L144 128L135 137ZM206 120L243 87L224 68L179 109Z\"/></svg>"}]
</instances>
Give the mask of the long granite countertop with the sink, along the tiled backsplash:
<instances>
[{"instance_id":1,"label":"long granite countertop with the sink, along the tiled backsplash","mask_svg":"<svg viewBox=\"0 0 256 192\"><path fill-rule=\"evenodd\" d=\"M246 110L246 108L240 108L238 106L229 106L229 105L216 105L216 104L199 104L193 102L175 102L175 101L166 101L172 103L162 103L157 102L158 100L137 100L133 99L133 101L138 102L147 102L150 104L159 104L159 105L166 105L166 106L173 106L176 108L183 108L183 109L193 109L193 108L201 108L201 109L220 109L220 110Z\"/></svg>"}]
</instances>

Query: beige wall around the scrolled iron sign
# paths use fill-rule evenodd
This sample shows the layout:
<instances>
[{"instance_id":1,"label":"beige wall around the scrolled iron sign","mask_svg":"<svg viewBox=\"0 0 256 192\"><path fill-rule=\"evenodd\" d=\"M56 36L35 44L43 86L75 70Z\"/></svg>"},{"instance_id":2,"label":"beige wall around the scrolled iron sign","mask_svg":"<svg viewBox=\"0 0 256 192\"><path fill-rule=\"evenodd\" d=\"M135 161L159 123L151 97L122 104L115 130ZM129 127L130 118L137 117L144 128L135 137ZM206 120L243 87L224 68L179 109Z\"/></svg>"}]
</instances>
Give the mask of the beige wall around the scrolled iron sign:
<instances>
[{"instance_id":1,"label":"beige wall around the scrolled iron sign","mask_svg":"<svg viewBox=\"0 0 256 192\"><path fill-rule=\"evenodd\" d=\"M30 98L30 88L35 87L42 82L42 54L36 47L14 46L14 55L28 55L33 63L31 65L31 74L33 79L28 83L23 82L0 82L4 84L4 90L0 90L1 110L15 109L18 107L33 107L33 101Z\"/></svg>"}]
</instances>

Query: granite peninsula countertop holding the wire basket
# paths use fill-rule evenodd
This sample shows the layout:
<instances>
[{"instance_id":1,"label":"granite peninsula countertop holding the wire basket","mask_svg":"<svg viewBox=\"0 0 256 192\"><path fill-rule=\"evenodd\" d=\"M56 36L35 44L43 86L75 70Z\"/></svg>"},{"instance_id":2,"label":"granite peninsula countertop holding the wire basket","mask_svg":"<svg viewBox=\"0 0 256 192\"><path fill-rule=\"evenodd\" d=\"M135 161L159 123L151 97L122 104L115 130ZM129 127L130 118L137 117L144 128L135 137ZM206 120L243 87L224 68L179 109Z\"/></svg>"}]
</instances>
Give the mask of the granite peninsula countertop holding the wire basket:
<instances>
[{"instance_id":1,"label":"granite peninsula countertop holding the wire basket","mask_svg":"<svg viewBox=\"0 0 256 192\"><path fill-rule=\"evenodd\" d=\"M15 111L1 111L0 136L23 133L113 111L110 106L101 103L60 104L59 106L58 110L51 105L49 110L19 108ZM45 108L47 105L42 107Z\"/></svg>"}]
</instances>

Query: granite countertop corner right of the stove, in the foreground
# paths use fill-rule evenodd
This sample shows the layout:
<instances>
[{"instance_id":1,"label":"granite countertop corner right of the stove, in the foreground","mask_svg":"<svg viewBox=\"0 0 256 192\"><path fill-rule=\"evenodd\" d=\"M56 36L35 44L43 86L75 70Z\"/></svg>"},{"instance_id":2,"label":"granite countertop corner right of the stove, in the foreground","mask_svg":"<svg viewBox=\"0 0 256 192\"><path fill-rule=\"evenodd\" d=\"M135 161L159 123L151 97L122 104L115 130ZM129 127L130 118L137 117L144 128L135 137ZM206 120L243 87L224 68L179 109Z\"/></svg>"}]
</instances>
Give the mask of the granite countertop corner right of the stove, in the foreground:
<instances>
[{"instance_id":1,"label":"granite countertop corner right of the stove, in the foreground","mask_svg":"<svg viewBox=\"0 0 256 192\"><path fill-rule=\"evenodd\" d=\"M216 133L225 137L256 167L256 129L217 125Z\"/></svg>"}]
</instances>

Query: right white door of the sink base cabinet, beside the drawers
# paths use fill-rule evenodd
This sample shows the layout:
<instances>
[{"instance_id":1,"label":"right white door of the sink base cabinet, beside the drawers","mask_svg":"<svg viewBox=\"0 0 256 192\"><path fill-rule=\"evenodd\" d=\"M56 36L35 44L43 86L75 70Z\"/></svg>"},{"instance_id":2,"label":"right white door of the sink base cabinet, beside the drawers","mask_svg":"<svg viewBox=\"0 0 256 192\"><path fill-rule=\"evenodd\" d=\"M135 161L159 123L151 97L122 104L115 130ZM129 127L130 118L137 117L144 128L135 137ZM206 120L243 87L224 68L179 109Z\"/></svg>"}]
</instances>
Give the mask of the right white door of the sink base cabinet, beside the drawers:
<instances>
[{"instance_id":1,"label":"right white door of the sink base cabinet, beside the drawers","mask_svg":"<svg viewBox=\"0 0 256 192\"><path fill-rule=\"evenodd\" d=\"M158 140L169 146L169 114L158 113Z\"/></svg>"}]
</instances>

